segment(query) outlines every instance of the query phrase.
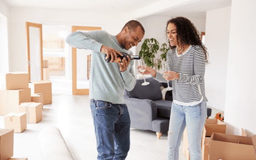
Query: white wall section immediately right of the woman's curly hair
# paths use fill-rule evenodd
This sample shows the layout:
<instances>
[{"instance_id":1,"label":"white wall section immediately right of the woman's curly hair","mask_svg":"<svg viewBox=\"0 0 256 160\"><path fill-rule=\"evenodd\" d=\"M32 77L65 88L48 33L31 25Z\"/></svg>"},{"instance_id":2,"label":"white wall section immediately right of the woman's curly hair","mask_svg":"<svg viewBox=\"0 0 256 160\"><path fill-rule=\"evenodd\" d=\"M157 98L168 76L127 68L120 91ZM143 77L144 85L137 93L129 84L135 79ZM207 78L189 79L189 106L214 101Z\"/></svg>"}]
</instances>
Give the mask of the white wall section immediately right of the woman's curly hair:
<instances>
[{"instance_id":1,"label":"white wall section immediately right of the woman's curly hair","mask_svg":"<svg viewBox=\"0 0 256 160\"><path fill-rule=\"evenodd\" d=\"M224 111L231 7L207 12L205 46L209 52L205 88L207 105ZM225 16L223 16L225 15Z\"/></svg>"}]
</instances>

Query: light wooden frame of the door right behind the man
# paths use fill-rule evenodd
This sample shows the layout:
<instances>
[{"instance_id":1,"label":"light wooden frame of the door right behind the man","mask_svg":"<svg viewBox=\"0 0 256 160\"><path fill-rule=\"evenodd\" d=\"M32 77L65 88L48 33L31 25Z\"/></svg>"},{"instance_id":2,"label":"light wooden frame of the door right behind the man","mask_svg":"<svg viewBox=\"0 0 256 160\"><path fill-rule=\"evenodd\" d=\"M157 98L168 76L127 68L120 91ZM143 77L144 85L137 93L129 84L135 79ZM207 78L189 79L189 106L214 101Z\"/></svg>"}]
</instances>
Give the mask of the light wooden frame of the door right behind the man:
<instances>
[{"instance_id":1,"label":"light wooden frame of the door right behind the man","mask_svg":"<svg viewBox=\"0 0 256 160\"><path fill-rule=\"evenodd\" d=\"M101 27L90 26L72 26L72 32L77 30L101 30ZM77 89L77 49L72 47L72 94L73 95L89 95L89 89Z\"/></svg>"}]
</instances>

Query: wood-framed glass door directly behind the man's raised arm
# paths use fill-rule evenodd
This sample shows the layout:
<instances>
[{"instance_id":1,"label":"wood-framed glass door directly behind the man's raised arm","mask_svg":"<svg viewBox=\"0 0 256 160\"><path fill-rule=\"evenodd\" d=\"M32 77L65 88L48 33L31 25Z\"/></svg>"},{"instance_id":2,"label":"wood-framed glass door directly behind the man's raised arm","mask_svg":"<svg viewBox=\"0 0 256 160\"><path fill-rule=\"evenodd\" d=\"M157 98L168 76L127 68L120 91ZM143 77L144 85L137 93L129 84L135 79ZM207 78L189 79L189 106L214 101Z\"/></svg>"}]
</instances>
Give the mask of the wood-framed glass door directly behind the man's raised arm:
<instances>
[{"instance_id":1,"label":"wood-framed glass door directly behind the man's raised arm","mask_svg":"<svg viewBox=\"0 0 256 160\"><path fill-rule=\"evenodd\" d=\"M72 32L88 32L101 30L101 27L72 26ZM90 73L91 50L72 48L72 93L73 95L89 95L89 80L87 75ZM88 64L89 63L89 64Z\"/></svg>"}]
</instances>

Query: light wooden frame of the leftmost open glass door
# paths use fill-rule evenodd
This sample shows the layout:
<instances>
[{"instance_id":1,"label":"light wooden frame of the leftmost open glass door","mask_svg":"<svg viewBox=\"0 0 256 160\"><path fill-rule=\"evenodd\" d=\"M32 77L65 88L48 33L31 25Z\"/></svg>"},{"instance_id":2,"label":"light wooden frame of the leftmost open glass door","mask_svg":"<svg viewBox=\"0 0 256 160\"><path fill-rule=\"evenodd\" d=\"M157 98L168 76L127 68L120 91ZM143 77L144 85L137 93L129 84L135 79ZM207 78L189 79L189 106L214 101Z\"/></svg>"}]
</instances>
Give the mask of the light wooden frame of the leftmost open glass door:
<instances>
[{"instance_id":1,"label":"light wooden frame of the leftmost open glass door","mask_svg":"<svg viewBox=\"0 0 256 160\"><path fill-rule=\"evenodd\" d=\"M27 36L27 51L28 51L28 72L29 81L31 80L30 75L30 40L29 40L29 27L39 28L39 38L40 38L40 58L41 58L41 80L43 80L43 36L42 36L42 24L26 22L26 36Z\"/></svg>"}]
</instances>

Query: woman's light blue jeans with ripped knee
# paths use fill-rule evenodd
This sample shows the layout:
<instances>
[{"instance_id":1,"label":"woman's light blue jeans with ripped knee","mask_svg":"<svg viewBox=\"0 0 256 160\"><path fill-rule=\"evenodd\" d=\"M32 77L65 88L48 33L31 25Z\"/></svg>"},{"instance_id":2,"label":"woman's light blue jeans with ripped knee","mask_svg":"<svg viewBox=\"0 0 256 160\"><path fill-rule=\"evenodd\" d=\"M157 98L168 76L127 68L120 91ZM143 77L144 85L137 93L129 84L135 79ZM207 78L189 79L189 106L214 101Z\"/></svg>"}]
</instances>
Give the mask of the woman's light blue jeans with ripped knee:
<instances>
[{"instance_id":1,"label":"woman's light blue jeans with ripped knee","mask_svg":"<svg viewBox=\"0 0 256 160\"><path fill-rule=\"evenodd\" d=\"M168 131L168 160L179 159L180 141L185 127L188 131L190 160L202 160L201 137L206 118L205 101L193 106L172 103Z\"/></svg>"}]
</instances>

